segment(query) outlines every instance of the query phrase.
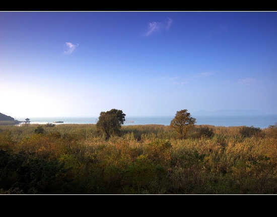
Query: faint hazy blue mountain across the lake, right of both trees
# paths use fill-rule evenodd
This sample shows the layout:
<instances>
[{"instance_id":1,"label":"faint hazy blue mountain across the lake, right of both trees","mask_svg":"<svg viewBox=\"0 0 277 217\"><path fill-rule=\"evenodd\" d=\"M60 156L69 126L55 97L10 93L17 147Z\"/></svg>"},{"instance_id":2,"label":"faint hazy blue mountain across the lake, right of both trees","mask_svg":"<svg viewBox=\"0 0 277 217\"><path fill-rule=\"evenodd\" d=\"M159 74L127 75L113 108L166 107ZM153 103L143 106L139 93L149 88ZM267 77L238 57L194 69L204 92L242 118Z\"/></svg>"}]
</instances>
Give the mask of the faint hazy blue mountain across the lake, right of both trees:
<instances>
[{"instance_id":1,"label":"faint hazy blue mountain across the lake, right of both trees","mask_svg":"<svg viewBox=\"0 0 277 217\"><path fill-rule=\"evenodd\" d=\"M205 110L198 110L191 115L266 115L259 110L217 110L215 112L208 112Z\"/></svg>"}]
</instances>

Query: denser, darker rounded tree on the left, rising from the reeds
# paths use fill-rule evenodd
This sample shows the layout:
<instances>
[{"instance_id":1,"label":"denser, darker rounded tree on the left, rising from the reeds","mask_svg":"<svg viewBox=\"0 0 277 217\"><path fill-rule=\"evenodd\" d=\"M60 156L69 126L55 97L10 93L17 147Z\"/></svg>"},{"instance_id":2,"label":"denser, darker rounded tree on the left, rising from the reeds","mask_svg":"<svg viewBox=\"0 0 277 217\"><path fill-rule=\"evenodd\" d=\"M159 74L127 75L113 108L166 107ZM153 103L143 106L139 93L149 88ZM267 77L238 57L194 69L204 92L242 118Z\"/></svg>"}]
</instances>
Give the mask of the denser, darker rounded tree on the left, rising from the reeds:
<instances>
[{"instance_id":1,"label":"denser, darker rounded tree on the left, rising from the reeds","mask_svg":"<svg viewBox=\"0 0 277 217\"><path fill-rule=\"evenodd\" d=\"M122 110L113 108L107 112L101 112L96 128L99 132L105 134L106 139L109 139L111 135L119 135L121 125L124 124L125 114Z\"/></svg>"}]
</instances>

